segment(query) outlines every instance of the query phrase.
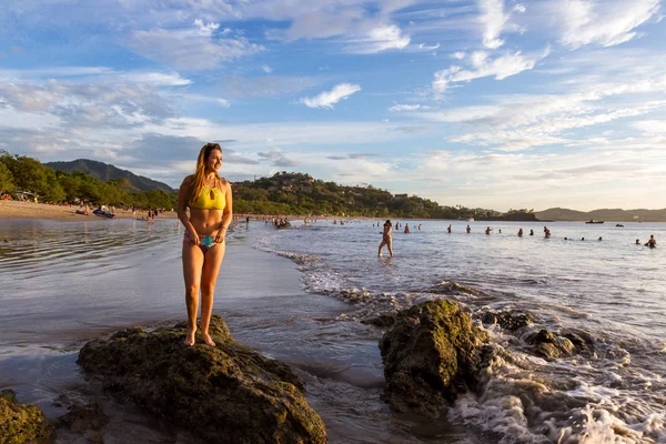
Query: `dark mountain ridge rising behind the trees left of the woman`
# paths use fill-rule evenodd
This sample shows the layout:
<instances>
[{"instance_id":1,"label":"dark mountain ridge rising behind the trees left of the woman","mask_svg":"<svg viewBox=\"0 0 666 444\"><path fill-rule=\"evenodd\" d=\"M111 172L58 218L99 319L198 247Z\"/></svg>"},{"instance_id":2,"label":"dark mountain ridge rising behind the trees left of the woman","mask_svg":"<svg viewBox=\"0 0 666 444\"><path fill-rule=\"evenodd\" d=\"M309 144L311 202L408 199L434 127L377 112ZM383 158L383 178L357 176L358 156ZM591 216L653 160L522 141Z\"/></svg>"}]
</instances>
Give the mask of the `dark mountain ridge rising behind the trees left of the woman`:
<instances>
[{"instance_id":1,"label":"dark mountain ridge rising behind the trees left of the woman","mask_svg":"<svg viewBox=\"0 0 666 444\"><path fill-rule=\"evenodd\" d=\"M77 159L72 160L71 162L48 162L44 163L44 165L52 168L53 170L64 171L68 173L82 171L85 174L89 174L103 182L107 182L111 179L124 178L129 180L132 186L139 191L162 190L170 193L175 192L174 189L163 182L158 182L155 180L144 178L143 175L137 175L131 171L121 170L120 168L94 160Z\"/></svg>"}]
</instances>

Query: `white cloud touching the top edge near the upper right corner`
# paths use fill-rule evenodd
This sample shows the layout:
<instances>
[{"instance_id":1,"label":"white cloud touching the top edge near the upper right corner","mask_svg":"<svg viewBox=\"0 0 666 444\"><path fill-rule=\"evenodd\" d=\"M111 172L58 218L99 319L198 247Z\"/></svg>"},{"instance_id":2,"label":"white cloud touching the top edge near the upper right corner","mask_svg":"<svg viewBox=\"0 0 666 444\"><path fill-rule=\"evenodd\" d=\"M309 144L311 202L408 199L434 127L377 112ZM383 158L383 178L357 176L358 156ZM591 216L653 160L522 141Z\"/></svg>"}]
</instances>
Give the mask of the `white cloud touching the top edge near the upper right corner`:
<instances>
[{"instance_id":1,"label":"white cloud touching the top edge near the upper right corner","mask_svg":"<svg viewBox=\"0 0 666 444\"><path fill-rule=\"evenodd\" d=\"M635 30L660 9L659 0L566 0L553 7L562 21L562 43L571 49L586 44L613 47L634 39Z\"/></svg>"}]
</instances>

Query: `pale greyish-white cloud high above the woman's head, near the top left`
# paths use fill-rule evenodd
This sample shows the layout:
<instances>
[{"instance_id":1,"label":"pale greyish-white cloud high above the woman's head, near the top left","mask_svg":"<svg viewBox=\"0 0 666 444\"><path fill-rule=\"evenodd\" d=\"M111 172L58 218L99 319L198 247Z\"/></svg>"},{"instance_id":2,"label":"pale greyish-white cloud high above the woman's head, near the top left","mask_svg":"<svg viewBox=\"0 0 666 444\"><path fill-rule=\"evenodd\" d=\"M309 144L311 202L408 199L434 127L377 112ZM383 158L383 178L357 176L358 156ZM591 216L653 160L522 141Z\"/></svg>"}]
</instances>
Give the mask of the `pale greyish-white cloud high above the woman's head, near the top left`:
<instances>
[{"instance_id":1,"label":"pale greyish-white cloud high above the woman's head, near the top left","mask_svg":"<svg viewBox=\"0 0 666 444\"><path fill-rule=\"evenodd\" d=\"M263 52L261 44L239 36L223 38L214 34L216 23L195 22L194 29L152 29L134 31L128 46L148 59L170 67L199 71L220 67L224 62Z\"/></svg>"}]
</instances>

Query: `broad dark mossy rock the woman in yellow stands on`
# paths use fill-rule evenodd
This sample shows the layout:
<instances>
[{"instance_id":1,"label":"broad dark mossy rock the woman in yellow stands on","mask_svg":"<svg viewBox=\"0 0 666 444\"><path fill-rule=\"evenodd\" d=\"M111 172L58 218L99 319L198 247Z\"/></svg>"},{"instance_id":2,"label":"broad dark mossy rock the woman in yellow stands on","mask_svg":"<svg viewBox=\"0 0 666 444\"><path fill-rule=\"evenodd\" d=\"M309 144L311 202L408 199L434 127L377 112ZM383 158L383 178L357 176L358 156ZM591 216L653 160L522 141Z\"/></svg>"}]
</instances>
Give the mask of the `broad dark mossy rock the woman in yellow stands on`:
<instances>
[{"instance_id":1,"label":"broad dark mossy rock the woman in yellow stands on","mask_svg":"<svg viewBox=\"0 0 666 444\"><path fill-rule=\"evenodd\" d=\"M220 316L210 333L215 347L189 347L184 323L128 329L89 342L78 362L107 390L210 443L326 442L321 417L286 364L235 342Z\"/></svg>"}]
</instances>

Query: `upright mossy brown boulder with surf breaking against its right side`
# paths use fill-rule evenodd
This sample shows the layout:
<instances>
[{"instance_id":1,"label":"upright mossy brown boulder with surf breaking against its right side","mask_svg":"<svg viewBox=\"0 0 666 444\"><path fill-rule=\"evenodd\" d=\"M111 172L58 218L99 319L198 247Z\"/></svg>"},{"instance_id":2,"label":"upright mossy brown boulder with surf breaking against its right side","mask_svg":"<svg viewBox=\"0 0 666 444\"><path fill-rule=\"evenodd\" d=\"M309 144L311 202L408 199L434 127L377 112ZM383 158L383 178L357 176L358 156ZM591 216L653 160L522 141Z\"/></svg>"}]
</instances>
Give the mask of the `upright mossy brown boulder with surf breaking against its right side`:
<instances>
[{"instance_id":1,"label":"upright mossy brown boulder with surf breaking against its right side","mask_svg":"<svg viewBox=\"0 0 666 444\"><path fill-rule=\"evenodd\" d=\"M397 314L380 341L393 410L438 417L457 393L476 385L478 346L487 334L455 302L438 300Z\"/></svg>"}]
</instances>

